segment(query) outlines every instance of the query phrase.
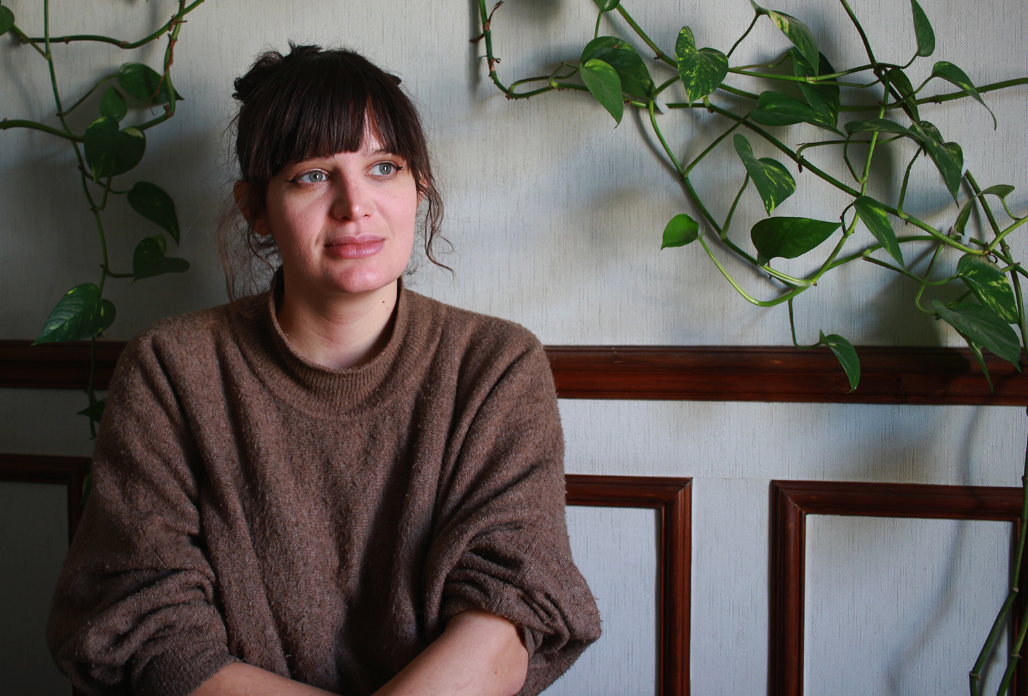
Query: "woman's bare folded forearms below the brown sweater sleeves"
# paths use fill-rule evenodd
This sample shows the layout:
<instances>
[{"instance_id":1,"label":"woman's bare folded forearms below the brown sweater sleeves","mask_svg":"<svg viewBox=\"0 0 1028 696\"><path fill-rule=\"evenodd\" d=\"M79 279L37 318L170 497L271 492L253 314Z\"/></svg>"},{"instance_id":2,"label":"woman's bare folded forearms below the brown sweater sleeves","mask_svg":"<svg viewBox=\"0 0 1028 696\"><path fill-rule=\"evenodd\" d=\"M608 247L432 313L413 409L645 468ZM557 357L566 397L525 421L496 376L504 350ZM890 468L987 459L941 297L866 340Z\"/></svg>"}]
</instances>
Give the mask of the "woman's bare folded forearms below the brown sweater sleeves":
<instances>
[{"instance_id":1,"label":"woman's bare folded forearms below the brown sweater sleeves","mask_svg":"<svg viewBox=\"0 0 1028 696\"><path fill-rule=\"evenodd\" d=\"M513 696L528 670L528 651L514 624L472 609L375 696ZM225 665L191 696L317 696L329 692L242 662Z\"/></svg>"}]
</instances>

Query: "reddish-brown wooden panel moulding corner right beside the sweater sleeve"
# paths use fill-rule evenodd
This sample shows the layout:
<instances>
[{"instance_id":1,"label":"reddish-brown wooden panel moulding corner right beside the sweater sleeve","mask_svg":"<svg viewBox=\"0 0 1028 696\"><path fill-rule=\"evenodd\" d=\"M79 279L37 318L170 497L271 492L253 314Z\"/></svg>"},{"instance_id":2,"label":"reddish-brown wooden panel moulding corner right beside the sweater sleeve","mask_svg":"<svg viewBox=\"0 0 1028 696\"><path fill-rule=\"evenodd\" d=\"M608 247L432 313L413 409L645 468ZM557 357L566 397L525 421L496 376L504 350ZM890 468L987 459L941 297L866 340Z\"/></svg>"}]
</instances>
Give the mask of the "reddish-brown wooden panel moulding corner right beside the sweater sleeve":
<instances>
[{"instance_id":1,"label":"reddish-brown wooden panel moulding corner right beside the sweater sleeve","mask_svg":"<svg viewBox=\"0 0 1028 696\"><path fill-rule=\"evenodd\" d=\"M692 579L692 479L566 476L567 504L652 508L660 517L660 696L688 696Z\"/></svg>"}]
</instances>

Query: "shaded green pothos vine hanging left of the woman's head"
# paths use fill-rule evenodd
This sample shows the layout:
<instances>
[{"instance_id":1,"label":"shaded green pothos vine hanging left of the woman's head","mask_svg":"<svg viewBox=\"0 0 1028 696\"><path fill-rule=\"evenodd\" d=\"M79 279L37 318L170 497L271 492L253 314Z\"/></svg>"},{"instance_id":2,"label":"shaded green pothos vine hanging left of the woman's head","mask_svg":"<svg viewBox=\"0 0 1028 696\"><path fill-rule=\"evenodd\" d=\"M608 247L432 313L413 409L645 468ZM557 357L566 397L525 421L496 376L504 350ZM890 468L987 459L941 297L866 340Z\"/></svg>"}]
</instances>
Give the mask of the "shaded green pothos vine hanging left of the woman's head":
<instances>
[{"instance_id":1,"label":"shaded green pothos vine hanging left of the woman's head","mask_svg":"<svg viewBox=\"0 0 1028 696\"><path fill-rule=\"evenodd\" d=\"M183 272L189 268L189 262L185 259L167 256L168 241L164 234L176 245L179 244L180 228L175 202L157 184L132 180L131 177L130 182L121 183L124 181L121 177L128 175L142 161L146 153L146 132L174 116L176 103L183 99L172 84L175 44L182 25L185 24L185 16L203 2L204 0L194 0L186 4L185 0L179 0L172 19L138 41L122 41L93 34L51 37L49 0L43 0L42 3L42 36L29 36L15 23L13 11L0 5L0 35L12 33L23 45L31 47L43 59L49 71L49 83L57 109L54 124L5 117L0 121L0 130L30 129L67 141L74 152L72 166L77 170L82 184L84 204L96 225L101 261L99 282L81 283L68 290L53 307L35 340L35 343L48 343L89 339L93 350L86 390L88 405L80 414L88 418L93 437L96 437L96 427L104 412L104 399L97 398L95 389L96 344L97 339L114 322L115 316L114 303L104 297L107 280L132 279L135 282L162 273ZM112 68L109 74L85 89L70 107L64 107L65 101L58 87L54 44L93 41L133 50L162 37L167 37L168 46L159 71L143 63L124 63ZM100 89L103 91L99 100L89 99ZM68 115L79 107L95 110L95 119L82 133L73 131L67 121ZM147 115L152 116L152 110L156 107L160 107L162 113L146 119ZM132 119L130 114L138 114L139 117ZM126 119L136 122L125 124ZM112 194L124 195L133 210L162 230L139 241L133 254L131 271L117 271L111 268L108 260L103 214ZM148 231L152 231L152 228Z\"/></svg>"}]
</instances>

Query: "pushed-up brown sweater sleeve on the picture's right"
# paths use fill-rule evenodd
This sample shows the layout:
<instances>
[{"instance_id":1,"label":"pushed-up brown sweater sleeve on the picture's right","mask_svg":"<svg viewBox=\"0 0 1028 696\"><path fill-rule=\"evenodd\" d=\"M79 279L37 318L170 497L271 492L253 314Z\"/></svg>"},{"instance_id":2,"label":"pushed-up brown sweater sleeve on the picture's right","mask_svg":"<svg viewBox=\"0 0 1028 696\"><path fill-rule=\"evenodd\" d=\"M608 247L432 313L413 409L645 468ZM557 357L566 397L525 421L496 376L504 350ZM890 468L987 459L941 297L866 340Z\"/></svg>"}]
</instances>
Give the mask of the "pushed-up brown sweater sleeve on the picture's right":
<instances>
[{"instance_id":1,"label":"pushed-up brown sweater sleeve on the picture's right","mask_svg":"<svg viewBox=\"0 0 1028 696\"><path fill-rule=\"evenodd\" d=\"M440 629L473 607L519 628L530 655L522 696L553 683L600 628L572 560L556 392L533 340L457 428L427 565L429 614L438 602Z\"/></svg>"}]
</instances>

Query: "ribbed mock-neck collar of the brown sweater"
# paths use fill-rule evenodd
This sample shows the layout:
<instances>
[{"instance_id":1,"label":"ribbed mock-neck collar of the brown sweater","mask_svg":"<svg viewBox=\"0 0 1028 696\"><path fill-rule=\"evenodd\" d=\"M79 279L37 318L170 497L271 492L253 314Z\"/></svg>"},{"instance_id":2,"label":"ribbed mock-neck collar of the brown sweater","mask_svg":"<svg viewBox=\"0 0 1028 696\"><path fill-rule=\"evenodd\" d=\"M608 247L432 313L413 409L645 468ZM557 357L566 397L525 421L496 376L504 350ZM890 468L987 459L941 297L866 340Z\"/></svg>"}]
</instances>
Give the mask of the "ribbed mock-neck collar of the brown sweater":
<instances>
[{"instance_id":1,"label":"ribbed mock-neck collar of the brown sweater","mask_svg":"<svg viewBox=\"0 0 1028 696\"><path fill-rule=\"evenodd\" d=\"M235 334L246 360L268 391L310 415L353 417L389 403L398 391L416 389L415 356L431 340L432 320L412 305L425 298L398 289L393 332L386 347L370 362L333 370L313 363L289 344L276 318L274 288L254 298L252 319L235 323ZM415 359L412 359L415 358Z\"/></svg>"}]
</instances>

